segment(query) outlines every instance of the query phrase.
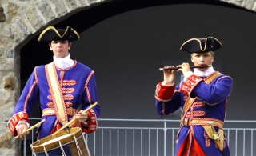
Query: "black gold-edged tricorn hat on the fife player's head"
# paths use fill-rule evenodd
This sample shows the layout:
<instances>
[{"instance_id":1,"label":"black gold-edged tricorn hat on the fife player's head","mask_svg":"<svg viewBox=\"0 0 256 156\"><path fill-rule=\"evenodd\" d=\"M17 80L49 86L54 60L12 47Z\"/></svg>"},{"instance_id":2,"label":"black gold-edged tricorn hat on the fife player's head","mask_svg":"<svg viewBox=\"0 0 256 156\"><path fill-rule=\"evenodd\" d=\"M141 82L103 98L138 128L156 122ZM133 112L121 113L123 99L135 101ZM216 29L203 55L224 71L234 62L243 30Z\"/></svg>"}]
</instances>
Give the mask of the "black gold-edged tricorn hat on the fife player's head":
<instances>
[{"instance_id":1,"label":"black gold-edged tricorn hat on the fife player's head","mask_svg":"<svg viewBox=\"0 0 256 156\"><path fill-rule=\"evenodd\" d=\"M181 50L187 53L205 53L209 51L215 51L222 47L222 43L217 38L191 38L184 42L181 46Z\"/></svg>"}]
</instances>

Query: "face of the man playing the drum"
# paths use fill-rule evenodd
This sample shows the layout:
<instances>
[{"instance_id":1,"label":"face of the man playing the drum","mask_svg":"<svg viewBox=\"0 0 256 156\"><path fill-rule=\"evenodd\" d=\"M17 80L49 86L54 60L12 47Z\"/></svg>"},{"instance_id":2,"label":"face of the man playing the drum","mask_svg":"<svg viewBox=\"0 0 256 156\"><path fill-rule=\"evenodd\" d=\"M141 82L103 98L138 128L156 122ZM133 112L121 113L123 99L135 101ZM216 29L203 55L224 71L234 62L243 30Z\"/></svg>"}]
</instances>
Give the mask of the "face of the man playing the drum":
<instances>
[{"instance_id":1,"label":"face of the man playing the drum","mask_svg":"<svg viewBox=\"0 0 256 156\"><path fill-rule=\"evenodd\" d=\"M69 55L71 42L68 42L67 40L51 41L49 46L56 58L65 58Z\"/></svg>"}]
</instances>

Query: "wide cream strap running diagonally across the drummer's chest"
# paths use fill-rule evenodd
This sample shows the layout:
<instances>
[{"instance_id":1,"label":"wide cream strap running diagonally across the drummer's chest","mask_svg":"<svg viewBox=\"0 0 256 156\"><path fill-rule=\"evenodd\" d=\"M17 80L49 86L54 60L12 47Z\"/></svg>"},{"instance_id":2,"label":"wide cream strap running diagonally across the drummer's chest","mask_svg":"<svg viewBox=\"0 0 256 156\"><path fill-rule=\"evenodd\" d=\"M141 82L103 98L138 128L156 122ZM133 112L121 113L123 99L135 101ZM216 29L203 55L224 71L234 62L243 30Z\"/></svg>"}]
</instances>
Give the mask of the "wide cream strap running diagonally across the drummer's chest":
<instances>
[{"instance_id":1,"label":"wide cream strap running diagonally across the drummer's chest","mask_svg":"<svg viewBox=\"0 0 256 156\"><path fill-rule=\"evenodd\" d=\"M54 102L54 110L56 111L56 117L59 122L65 124L67 122L66 115L66 106L62 94L62 86L60 86L58 82L58 74L56 69L54 68L54 63L51 62L46 65L49 79L48 83L50 86L50 94L52 95L52 99Z\"/></svg>"}]
</instances>

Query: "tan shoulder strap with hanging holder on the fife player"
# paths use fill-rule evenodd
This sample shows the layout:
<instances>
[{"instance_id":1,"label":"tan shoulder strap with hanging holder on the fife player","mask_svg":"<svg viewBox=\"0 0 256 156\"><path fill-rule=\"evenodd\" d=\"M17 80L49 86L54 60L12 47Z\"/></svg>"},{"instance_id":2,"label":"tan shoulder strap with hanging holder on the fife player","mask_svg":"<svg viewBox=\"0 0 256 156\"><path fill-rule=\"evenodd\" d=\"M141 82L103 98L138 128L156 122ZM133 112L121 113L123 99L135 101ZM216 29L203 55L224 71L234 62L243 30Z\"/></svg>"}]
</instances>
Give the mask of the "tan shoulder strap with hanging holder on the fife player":
<instances>
[{"instance_id":1,"label":"tan shoulder strap with hanging holder on the fife player","mask_svg":"<svg viewBox=\"0 0 256 156\"><path fill-rule=\"evenodd\" d=\"M218 71L215 72L214 74L210 75L210 77L206 78L205 80L205 83L206 84L210 84L210 82L212 82L214 80L214 78L217 78L219 75L221 75L221 73L219 73ZM196 98L190 98L186 101L184 107L183 107L183 110L182 110L182 115L181 115L181 124L180 126L182 126L182 124L184 123L184 120L185 120L185 116L186 116L186 113L187 111L190 109L191 107L191 104L194 102ZM189 121L188 121L189 122ZM206 122L206 121L204 121ZM218 123L218 122L216 122ZM212 130L211 128L214 129L214 127L210 127L210 126L202 126L205 130L206 130L206 134L208 135L208 137L210 139L213 139L216 146L218 146L218 149L222 152L223 150L223 140L224 140L224 133L223 133L223 130L222 129L218 129L218 139L214 139L213 138L213 135L212 135ZM222 153L223 154L223 153Z\"/></svg>"}]
</instances>

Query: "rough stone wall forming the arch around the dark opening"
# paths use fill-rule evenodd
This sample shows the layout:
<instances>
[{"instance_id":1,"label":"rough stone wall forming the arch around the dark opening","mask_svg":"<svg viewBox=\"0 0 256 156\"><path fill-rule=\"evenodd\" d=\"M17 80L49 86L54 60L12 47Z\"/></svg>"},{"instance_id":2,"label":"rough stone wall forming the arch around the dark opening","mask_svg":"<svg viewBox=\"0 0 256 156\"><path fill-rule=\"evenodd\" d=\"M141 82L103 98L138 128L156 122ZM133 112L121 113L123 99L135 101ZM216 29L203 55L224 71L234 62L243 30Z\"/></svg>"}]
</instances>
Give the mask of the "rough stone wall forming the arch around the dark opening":
<instances>
[{"instance_id":1,"label":"rough stone wall forming the arch around the dark opening","mask_svg":"<svg viewBox=\"0 0 256 156\"><path fill-rule=\"evenodd\" d=\"M19 155L20 139L6 126L20 94L20 49L46 26L111 0L0 1L0 155ZM254 0L222 0L256 11Z\"/></svg>"}]
</instances>

